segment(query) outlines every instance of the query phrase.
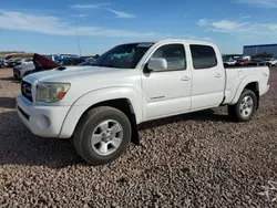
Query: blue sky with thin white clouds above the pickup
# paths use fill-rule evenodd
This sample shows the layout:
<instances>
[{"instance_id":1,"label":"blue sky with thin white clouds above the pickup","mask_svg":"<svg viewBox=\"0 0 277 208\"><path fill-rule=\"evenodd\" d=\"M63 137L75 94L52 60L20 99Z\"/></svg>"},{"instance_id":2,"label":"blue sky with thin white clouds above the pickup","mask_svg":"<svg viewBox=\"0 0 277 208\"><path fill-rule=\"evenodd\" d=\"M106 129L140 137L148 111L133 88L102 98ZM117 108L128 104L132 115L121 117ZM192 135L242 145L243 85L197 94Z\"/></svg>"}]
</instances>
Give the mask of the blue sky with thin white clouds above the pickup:
<instances>
[{"instance_id":1,"label":"blue sky with thin white clouds above the pickup","mask_svg":"<svg viewBox=\"0 0 277 208\"><path fill-rule=\"evenodd\" d=\"M223 53L277 42L277 0L25 0L0 4L0 51L103 53L119 43L194 39Z\"/></svg>"}]
</instances>

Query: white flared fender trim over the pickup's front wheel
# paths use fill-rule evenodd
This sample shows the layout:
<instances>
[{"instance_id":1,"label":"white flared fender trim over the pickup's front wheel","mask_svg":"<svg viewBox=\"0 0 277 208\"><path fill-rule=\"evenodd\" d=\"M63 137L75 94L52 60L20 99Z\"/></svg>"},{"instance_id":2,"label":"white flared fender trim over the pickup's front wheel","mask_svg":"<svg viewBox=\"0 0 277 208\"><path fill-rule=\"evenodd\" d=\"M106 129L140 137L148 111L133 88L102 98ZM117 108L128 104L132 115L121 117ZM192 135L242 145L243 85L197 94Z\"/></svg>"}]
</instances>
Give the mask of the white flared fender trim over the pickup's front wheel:
<instances>
[{"instance_id":1,"label":"white flared fender trim over the pickup's front wheel","mask_svg":"<svg viewBox=\"0 0 277 208\"><path fill-rule=\"evenodd\" d=\"M136 124L141 123L143 117L142 98L140 96L140 93L137 93L137 91L135 91L133 87L130 86L99 89L83 94L71 105L63 121L58 137L60 138L71 137L81 116L91 106L101 102L112 101L117 98L126 98L130 102L136 117Z\"/></svg>"}]
</instances>

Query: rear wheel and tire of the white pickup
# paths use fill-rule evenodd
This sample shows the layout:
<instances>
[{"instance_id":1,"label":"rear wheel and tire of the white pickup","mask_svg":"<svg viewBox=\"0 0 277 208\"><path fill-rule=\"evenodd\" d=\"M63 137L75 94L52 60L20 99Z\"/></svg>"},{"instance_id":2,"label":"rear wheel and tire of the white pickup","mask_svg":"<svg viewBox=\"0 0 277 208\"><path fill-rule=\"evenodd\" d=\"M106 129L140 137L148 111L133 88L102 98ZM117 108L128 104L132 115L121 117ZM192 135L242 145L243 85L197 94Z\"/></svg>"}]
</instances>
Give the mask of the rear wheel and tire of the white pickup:
<instances>
[{"instance_id":1,"label":"rear wheel and tire of the white pickup","mask_svg":"<svg viewBox=\"0 0 277 208\"><path fill-rule=\"evenodd\" d=\"M249 121L257 108L257 96L250 90L244 90L235 105L228 106L228 115L238 122Z\"/></svg>"}]
</instances>

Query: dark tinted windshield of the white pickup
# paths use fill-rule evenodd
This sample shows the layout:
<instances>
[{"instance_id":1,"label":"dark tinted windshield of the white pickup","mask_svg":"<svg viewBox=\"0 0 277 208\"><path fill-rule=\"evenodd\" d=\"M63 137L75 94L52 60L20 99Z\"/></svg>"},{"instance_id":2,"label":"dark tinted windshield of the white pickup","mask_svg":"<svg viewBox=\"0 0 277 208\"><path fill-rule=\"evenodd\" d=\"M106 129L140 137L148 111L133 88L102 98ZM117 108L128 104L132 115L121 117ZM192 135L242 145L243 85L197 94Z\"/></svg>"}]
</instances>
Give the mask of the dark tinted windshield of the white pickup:
<instances>
[{"instance_id":1,"label":"dark tinted windshield of the white pickup","mask_svg":"<svg viewBox=\"0 0 277 208\"><path fill-rule=\"evenodd\" d=\"M102 54L93 65L134 69L154 42L129 43L117 45Z\"/></svg>"}]
</instances>

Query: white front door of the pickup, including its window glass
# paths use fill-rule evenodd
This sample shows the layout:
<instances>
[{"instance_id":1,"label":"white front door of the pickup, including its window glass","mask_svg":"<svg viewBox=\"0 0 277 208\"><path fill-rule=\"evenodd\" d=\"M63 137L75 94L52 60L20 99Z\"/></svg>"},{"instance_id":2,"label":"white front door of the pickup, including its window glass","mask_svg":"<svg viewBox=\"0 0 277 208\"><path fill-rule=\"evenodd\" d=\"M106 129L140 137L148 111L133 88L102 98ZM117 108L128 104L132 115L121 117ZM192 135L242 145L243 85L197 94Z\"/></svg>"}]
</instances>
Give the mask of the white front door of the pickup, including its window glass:
<instances>
[{"instance_id":1,"label":"white front door of the pickup, including its window glass","mask_svg":"<svg viewBox=\"0 0 277 208\"><path fill-rule=\"evenodd\" d=\"M185 45L161 45L152 53L152 58L165 59L167 69L143 73L144 117L153 119L189 111L192 71L186 64Z\"/></svg>"}]
</instances>

